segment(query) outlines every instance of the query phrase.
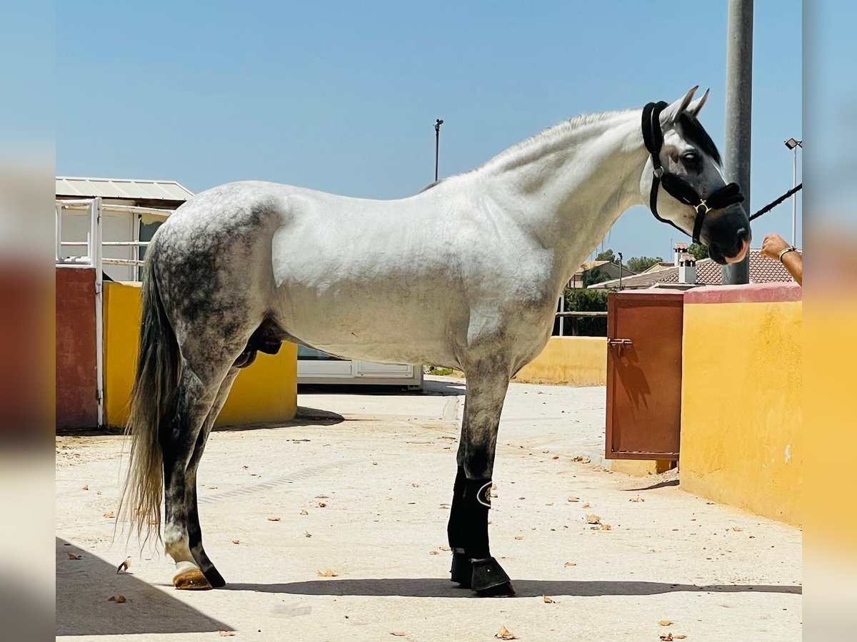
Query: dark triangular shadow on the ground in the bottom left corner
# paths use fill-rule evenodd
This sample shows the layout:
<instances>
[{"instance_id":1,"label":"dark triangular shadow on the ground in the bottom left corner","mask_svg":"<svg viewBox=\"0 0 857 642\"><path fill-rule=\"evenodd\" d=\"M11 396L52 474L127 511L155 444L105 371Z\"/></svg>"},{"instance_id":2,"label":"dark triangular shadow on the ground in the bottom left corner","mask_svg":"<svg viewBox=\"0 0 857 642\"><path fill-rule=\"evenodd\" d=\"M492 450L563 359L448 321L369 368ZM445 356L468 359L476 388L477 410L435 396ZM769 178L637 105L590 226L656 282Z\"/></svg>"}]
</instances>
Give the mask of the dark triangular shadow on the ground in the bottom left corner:
<instances>
[{"instance_id":1,"label":"dark triangular shadow on the ground in the bottom left corner","mask_svg":"<svg viewBox=\"0 0 857 642\"><path fill-rule=\"evenodd\" d=\"M70 559L69 555L80 556ZM132 569L133 570L133 569ZM123 595L117 603L110 597ZM57 538L57 635L128 635L230 630L224 622Z\"/></svg>"}]
</instances>

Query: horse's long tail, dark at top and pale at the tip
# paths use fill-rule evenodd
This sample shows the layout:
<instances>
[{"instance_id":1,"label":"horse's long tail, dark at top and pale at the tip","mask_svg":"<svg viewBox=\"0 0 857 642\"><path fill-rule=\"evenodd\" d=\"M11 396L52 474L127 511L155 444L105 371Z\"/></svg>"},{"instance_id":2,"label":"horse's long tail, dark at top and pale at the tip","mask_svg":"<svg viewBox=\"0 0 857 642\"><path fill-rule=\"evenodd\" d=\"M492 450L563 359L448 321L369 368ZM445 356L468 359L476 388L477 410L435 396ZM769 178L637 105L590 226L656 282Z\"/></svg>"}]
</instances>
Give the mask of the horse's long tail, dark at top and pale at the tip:
<instances>
[{"instance_id":1,"label":"horse's long tail, dark at top and pale at the tip","mask_svg":"<svg viewBox=\"0 0 857 642\"><path fill-rule=\"evenodd\" d=\"M170 410L181 375L176 334L158 288L153 245L148 248L143 269L140 354L125 427L126 437L131 437L130 461L118 508L118 518L123 517L124 509L141 546L153 532L160 539L164 460L159 427Z\"/></svg>"}]
</instances>

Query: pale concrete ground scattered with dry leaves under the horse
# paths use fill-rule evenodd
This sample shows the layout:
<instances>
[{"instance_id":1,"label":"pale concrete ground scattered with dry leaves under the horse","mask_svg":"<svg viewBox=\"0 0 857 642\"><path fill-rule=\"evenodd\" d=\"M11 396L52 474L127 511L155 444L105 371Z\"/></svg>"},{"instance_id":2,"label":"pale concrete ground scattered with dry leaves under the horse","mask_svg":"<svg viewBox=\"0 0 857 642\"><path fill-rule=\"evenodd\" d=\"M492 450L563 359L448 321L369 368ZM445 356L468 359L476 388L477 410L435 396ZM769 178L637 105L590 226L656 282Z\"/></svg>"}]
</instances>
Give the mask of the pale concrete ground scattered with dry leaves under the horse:
<instances>
[{"instance_id":1,"label":"pale concrete ground scattered with dry leaves under the horse","mask_svg":"<svg viewBox=\"0 0 857 642\"><path fill-rule=\"evenodd\" d=\"M218 591L175 591L163 553L111 541L122 437L57 437L57 635L800 639L800 530L690 496L674 472L605 471L603 388L512 384L490 517L518 596L453 585L463 393L450 377L428 377L423 394L315 390L291 425L216 431L199 494L207 551L229 582Z\"/></svg>"}]
</instances>

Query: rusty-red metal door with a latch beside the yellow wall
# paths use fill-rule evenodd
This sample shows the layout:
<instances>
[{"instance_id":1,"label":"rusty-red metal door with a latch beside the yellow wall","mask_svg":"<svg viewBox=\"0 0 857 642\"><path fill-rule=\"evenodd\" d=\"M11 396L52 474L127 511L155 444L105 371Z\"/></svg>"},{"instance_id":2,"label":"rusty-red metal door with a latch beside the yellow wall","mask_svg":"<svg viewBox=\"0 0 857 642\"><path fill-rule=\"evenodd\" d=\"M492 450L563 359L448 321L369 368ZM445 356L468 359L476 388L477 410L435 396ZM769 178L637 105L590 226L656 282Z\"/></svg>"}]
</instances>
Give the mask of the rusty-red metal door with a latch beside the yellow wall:
<instances>
[{"instance_id":1,"label":"rusty-red metal door with a latch beside the yellow wall","mask_svg":"<svg viewBox=\"0 0 857 642\"><path fill-rule=\"evenodd\" d=\"M607 459L678 460L682 292L608 296Z\"/></svg>"}]
</instances>

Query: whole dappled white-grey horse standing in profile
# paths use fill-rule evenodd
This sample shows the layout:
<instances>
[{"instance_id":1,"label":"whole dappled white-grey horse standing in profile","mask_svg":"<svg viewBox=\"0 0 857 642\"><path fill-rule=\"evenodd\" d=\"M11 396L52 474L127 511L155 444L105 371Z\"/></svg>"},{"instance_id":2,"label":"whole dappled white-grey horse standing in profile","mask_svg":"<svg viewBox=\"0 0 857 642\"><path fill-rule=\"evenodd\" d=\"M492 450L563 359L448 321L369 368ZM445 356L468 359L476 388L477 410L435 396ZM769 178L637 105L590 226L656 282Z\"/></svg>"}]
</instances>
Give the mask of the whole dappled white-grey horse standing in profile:
<instances>
[{"instance_id":1,"label":"whole dappled white-grey horse standing in profile","mask_svg":"<svg viewBox=\"0 0 857 642\"><path fill-rule=\"evenodd\" d=\"M698 223L718 262L746 253L750 224L736 199L705 205L724 180L696 119L708 92L692 101L695 89L654 111L563 122L406 199L237 182L182 205L147 251L120 504L145 539L159 534L164 491L174 585L225 584L202 547L196 471L239 368L285 340L465 372L452 580L512 594L488 549L500 409L509 379L548 341L569 278L620 214L647 199L687 234ZM670 195L676 181L682 199Z\"/></svg>"}]
</instances>

